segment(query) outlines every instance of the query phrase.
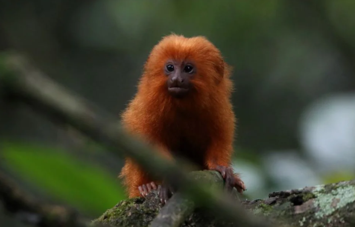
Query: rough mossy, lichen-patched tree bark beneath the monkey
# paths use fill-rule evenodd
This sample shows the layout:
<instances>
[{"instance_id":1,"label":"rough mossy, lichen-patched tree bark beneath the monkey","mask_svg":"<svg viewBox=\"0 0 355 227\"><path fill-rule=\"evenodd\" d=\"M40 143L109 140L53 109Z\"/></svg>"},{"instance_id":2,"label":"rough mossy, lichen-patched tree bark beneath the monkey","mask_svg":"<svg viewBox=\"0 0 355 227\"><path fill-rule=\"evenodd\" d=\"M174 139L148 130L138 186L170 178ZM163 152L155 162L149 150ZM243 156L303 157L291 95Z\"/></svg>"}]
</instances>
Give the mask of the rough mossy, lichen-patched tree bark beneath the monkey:
<instances>
[{"instance_id":1,"label":"rough mossy, lichen-patched tree bark beneath the monkey","mask_svg":"<svg viewBox=\"0 0 355 227\"><path fill-rule=\"evenodd\" d=\"M275 226L355 226L355 180L274 192L269 198L241 203L246 210L270 220ZM161 207L157 194L152 192L146 199L121 201L93 222L117 227L148 227ZM197 208L180 226L229 227L235 224L218 220L208 211Z\"/></svg>"}]
</instances>

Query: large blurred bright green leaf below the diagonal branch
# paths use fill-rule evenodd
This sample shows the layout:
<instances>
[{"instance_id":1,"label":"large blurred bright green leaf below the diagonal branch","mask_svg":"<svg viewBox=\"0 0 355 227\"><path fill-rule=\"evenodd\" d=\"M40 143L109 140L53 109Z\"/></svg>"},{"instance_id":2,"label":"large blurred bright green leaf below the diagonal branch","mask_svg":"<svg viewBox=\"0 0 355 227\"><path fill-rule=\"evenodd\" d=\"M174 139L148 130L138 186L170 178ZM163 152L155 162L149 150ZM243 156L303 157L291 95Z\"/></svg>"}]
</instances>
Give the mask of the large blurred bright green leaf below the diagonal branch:
<instances>
[{"instance_id":1,"label":"large blurred bright green leaf below the diagonal branch","mask_svg":"<svg viewBox=\"0 0 355 227\"><path fill-rule=\"evenodd\" d=\"M3 145L4 161L10 169L82 212L102 214L126 197L119 180L93 163L52 148Z\"/></svg>"}]
</instances>

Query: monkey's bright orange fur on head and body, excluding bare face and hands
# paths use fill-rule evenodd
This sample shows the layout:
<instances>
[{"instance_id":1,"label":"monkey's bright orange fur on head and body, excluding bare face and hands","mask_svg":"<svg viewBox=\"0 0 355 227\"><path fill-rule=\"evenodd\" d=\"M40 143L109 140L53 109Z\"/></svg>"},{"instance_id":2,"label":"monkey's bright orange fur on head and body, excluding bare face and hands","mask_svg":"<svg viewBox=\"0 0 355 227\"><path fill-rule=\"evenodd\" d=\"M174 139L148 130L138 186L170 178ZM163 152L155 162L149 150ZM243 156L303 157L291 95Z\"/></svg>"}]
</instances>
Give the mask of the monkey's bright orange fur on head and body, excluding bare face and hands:
<instances>
[{"instance_id":1,"label":"monkey's bright orange fur on head and body, excluding bare face and hands","mask_svg":"<svg viewBox=\"0 0 355 227\"><path fill-rule=\"evenodd\" d=\"M187 59L197 68L191 79L195 92L186 99L168 94L164 65L169 59ZM230 70L205 37L163 37L144 65L137 94L122 114L123 126L157 146L168 158L185 156L202 169L229 166L236 122L230 103ZM138 186L151 182L130 158L120 177L130 198L140 196Z\"/></svg>"}]
</instances>

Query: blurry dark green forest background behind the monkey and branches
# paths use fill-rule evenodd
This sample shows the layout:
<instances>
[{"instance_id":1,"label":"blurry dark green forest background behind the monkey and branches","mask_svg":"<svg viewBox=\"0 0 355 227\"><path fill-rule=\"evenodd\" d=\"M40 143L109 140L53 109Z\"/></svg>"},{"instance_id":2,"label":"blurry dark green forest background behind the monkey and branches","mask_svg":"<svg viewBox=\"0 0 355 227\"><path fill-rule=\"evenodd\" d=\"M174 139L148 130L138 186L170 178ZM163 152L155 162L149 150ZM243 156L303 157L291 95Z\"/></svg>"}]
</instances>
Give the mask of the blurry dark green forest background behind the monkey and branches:
<instances>
[{"instance_id":1,"label":"blurry dark green forest background behind the monkey and branches","mask_svg":"<svg viewBox=\"0 0 355 227\"><path fill-rule=\"evenodd\" d=\"M354 178L354 10L353 0L2 0L0 49L119 116L162 36L206 36L234 67L233 164L257 199ZM0 168L40 198L90 217L126 198L122 159L26 106L0 103L0 139Z\"/></svg>"}]
</instances>

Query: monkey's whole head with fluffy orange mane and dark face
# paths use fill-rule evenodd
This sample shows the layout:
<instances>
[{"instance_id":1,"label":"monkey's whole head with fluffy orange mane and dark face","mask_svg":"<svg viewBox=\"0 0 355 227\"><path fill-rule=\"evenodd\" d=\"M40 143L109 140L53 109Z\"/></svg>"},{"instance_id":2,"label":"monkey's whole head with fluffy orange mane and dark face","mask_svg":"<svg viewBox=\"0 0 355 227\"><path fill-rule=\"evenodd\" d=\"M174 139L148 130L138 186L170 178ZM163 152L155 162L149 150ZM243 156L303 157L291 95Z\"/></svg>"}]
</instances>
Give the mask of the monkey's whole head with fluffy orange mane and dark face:
<instances>
[{"instance_id":1,"label":"monkey's whole head with fluffy orange mane and dark face","mask_svg":"<svg viewBox=\"0 0 355 227\"><path fill-rule=\"evenodd\" d=\"M224 61L206 38L170 35L154 46L140 81L140 89L154 100L204 105L223 90ZM225 90L225 89L224 89Z\"/></svg>"}]
</instances>

